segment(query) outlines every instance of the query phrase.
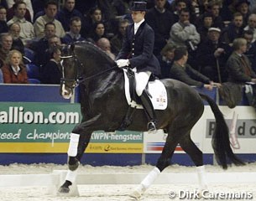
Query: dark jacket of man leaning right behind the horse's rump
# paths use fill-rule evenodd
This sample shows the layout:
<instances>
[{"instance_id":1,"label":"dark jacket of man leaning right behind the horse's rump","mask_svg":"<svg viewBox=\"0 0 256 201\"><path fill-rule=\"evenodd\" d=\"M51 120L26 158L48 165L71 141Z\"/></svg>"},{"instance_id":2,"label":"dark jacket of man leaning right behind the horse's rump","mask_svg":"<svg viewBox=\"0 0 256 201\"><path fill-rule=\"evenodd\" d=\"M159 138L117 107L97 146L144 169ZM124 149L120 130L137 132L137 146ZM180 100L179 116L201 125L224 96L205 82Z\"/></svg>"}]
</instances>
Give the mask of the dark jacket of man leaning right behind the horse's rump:
<instances>
[{"instance_id":1,"label":"dark jacket of man leaning right behind the horse's rump","mask_svg":"<svg viewBox=\"0 0 256 201\"><path fill-rule=\"evenodd\" d=\"M183 67L174 63L170 69L170 78L180 80L186 85L195 85L197 87L203 87L204 84L210 84L209 78L192 69L189 64L185 64L185 67Z\"/></svg>"}]
</instances>

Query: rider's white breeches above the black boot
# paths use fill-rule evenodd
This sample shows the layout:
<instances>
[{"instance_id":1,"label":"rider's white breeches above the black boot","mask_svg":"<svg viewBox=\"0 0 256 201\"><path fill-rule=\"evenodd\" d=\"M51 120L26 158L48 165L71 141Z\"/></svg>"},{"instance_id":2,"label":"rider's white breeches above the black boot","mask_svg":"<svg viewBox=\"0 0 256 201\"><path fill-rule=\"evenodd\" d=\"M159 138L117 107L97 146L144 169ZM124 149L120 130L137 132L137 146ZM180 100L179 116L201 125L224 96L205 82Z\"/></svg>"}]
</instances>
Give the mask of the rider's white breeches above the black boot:
<instances>
[{"instance_id":1,"label":"rider's white breeches above the black boot","mask_svg":"<svg viewBox=\"0 0 256 201\"><path fill-rule=\"evenodd\" d=\"M142 95L142 92L146 88L146 85L149 82L149 77L151 75L151 72L135 72L135 80L136 80L136 93L138 96Z\"/></svg>"}]
</instances>

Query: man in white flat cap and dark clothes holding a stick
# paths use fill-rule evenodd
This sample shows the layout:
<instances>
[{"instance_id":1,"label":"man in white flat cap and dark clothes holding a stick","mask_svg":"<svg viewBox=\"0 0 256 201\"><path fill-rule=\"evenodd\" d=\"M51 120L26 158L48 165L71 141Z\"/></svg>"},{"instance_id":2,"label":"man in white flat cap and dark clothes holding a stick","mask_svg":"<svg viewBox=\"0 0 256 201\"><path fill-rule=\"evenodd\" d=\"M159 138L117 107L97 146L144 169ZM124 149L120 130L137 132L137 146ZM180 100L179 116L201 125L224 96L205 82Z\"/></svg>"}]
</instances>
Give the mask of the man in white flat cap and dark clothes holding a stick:
<instances>
[{"instance_id":1,"label":"man in white flat cap and dark clothes holding a stick","mask_svg":"<svg viewBox=\"0 0 256 201\"><path fill-rule=\"evenodd\" d=\"M198 46L196 54L201 73L215 82L227 80L225 64L231 54L231 47L220 41L220 33L220 28L209 28L208 39Z\"/></svg>"}]
</instances>

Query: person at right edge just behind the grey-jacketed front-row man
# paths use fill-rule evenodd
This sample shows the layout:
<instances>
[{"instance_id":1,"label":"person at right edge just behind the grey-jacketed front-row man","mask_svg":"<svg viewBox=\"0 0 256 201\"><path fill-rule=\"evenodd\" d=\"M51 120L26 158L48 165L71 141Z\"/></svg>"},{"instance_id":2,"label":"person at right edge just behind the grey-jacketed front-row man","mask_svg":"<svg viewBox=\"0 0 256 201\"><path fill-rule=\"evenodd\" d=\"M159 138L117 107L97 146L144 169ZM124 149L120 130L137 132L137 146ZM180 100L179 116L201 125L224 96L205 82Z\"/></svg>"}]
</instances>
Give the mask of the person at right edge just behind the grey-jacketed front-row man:
<instances>
[{"instance_id":1,"label":"person at right edge just behind the grey-jacketed front-row man","mask_svg":"<svg viewBox=\"0 0 256 201\"><path fill-rule=\"evenodd\" d=\"M243 39L247 41L247 50L244 53L250 60L253 71L256 73L256 41L253 42L253 32L244 31Z\"/></svg>"}]
</instances>

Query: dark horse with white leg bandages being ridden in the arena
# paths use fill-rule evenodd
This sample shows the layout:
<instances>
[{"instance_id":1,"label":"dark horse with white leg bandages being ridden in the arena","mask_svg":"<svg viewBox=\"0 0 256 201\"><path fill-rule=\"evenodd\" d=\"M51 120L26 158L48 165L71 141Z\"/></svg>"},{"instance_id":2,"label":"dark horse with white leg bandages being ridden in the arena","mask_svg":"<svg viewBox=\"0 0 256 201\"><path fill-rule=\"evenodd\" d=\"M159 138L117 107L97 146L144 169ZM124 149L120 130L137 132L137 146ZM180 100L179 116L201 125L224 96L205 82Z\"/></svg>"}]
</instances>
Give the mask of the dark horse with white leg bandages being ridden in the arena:
<instances>
[{"instance_id":1,"label":"dark horse with white leg bandages being ridden in the arena","mask_svg":"<svg viewBox=\"0 0 256 201\"><path fill-rule=\"evenodd\" d=\"M76 152L75 155L68 156L69 171L65 183L59 189L60 193L69 193L76 179L81 157L90 142L91 133L97 130L118 130L129 106L124 92L123 70L94 44L78 42L66 45L61 49L61 68L63 78L60 94L65 98L71 98L76 85L80 85L81 95L82 120L72 131L72 134L77 136L74 142L77 142L76 146L72 147L73 141L71 141L69 147ZM159 173L170 165L170 159L178 143L195 163L199 185L201 188L206 188L202 152L191 140L191 129L204 111L203 100L209 103L216 119L212 148L217 162L224 169L227 169L227 164L230 162L235 165L244 164L232 152L228 127L215 101L178 80L160 81L167 90L168 106L163 111L155 111L158 120L157 129L163 129L168 135L154 170L130 194L133 198L139 198ZM144 110L136 109L133 121L126 130L147 131L147 123Z\"/></svg>"}]
</instances>

